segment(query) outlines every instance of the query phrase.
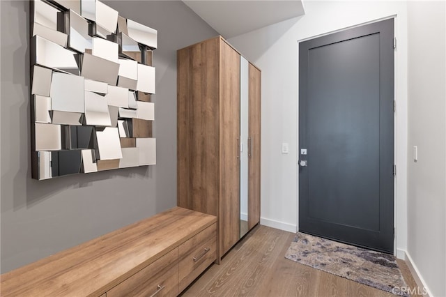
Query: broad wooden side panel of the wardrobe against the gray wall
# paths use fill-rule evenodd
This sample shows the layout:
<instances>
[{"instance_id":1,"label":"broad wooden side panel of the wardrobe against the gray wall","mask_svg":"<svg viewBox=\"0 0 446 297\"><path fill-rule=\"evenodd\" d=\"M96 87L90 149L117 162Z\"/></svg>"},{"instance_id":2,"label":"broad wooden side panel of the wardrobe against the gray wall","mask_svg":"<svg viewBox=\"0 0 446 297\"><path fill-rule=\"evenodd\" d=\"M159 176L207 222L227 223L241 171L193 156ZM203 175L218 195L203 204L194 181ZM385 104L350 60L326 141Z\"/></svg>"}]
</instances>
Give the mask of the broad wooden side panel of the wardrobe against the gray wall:
<instances>
[{"instance_id":1,"label":"broad wooden side panel of the wardrobe against the gray wall","mask_svg":"<svg viewBox=\"0 0 446 297\"><path fill-rule=\"evenodd\" d=\"M219 39L178 50L178 206L218 214Z\"/></svg>"}]
</instances>

